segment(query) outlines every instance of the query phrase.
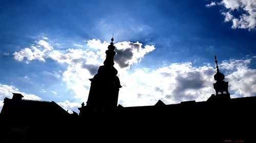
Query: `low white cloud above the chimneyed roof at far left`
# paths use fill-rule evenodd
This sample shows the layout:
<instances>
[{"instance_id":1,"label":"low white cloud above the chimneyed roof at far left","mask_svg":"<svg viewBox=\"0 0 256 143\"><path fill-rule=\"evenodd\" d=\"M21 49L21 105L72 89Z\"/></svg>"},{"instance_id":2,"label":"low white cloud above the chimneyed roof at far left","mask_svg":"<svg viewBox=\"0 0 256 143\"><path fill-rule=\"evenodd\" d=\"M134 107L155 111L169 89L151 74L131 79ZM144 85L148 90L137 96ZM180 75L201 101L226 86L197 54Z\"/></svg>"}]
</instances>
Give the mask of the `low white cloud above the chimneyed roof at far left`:
<instances>
[{"instance_id":1,"label":"low white cloud above the chimneyed roof at far left","mask_svg":"<svg viewBox=\"0 0 256 143\"><path fill-rule=\"evenodd\" d=\"M41 100L40 97L34 95L34 94L27 94L24 92L20 92L16 87L13 85L6 85L0 83L0 110L2 110L4 98L12 98L12 93L20 93L24 96L23 99L30 99L30 100Z\"/></svg>"}]
</instances>

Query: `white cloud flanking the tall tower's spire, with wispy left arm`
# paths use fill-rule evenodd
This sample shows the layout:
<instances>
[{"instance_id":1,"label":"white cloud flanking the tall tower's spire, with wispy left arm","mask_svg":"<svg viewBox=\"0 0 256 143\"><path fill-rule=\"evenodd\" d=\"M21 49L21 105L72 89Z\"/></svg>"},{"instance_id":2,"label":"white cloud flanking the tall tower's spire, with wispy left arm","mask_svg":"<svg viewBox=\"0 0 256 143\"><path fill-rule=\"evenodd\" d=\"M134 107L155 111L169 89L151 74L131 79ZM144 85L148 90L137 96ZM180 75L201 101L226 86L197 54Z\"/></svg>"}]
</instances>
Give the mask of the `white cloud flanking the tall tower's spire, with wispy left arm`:
<instances>
[{"instance_id":1,"label":"white cloud flanking the tall tower's spire, with wispy left arm","mask_svg":"<svg viewBox=\"0 0 256 143\"><path fill-rule=\"evenodd\" d=\"M92 39L87 41L86 49L57 50L51 46L49 39L43 39L36 42L36 45L17 51L13 55L15 60L27 63L50 58L60 64L66 64L67 70L63 71L62 80L66 81L68 89L75 93L76 98L86 101L91 84L89 78L92 78L97 73L98 67L103 65L109 44L106 41ZM138 63L143 56L155 49L154 45L143 46L139 42L129 41L115 43L115 46L117 52L114 58L115 67L122 71Z\"/></svg>"}]
</instances>

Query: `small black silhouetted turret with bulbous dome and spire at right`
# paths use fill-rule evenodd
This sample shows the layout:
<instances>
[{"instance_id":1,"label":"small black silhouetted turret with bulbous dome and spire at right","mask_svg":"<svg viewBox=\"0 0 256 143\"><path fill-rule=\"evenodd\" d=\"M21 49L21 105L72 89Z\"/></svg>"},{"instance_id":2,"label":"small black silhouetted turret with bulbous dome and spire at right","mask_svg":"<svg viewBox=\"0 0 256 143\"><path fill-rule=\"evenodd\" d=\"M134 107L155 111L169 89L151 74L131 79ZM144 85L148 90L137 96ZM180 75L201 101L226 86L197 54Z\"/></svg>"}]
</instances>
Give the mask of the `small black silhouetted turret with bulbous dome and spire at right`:
<instances>
[{"instance_id":1,"label":"small black silhouetted turret with bulbous dome and spire at right","mask_svg":"<svg viewBox=\"0 0 256 143\"><path fill-rule=\"evenodd\" d=\"M214 79L216 80L216 83L214 83L214 89L216 91L216 95L223 95L223 96L228 96L230 98L230 95L228 93L228 82L224 81L224 74L220 72L219 66L218 66L218 61L215 56L215 63L216 63L216 68L217 68L217 73L214 75Z\"/></svg>"}]
</instances>

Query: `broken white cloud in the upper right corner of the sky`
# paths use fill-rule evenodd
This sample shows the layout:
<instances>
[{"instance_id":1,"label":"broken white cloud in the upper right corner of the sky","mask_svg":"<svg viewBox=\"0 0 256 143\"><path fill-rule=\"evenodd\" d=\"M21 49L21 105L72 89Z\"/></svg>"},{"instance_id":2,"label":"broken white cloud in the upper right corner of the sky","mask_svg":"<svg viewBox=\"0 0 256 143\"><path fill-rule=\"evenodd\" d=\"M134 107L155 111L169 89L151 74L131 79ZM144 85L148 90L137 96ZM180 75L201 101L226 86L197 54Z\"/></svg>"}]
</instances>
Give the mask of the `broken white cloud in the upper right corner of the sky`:
<instances>
[{"instance_id":1,"label":"broken white cloud in the upper right corner of the sky","mask_svg":"<svg viewBox=\"0 0 256 143\"><path fill-rule=\"evenodd\" d=\"M216 5L216 2L207 4L206 7ZM256 25L256 1L255 0L222 0L219 5L224 6L221 14L225 16L225 22L232 22L232 28L255 29ZM234 16L234 12L239 11L239 16Z\"/></svg>"}]
</instances>

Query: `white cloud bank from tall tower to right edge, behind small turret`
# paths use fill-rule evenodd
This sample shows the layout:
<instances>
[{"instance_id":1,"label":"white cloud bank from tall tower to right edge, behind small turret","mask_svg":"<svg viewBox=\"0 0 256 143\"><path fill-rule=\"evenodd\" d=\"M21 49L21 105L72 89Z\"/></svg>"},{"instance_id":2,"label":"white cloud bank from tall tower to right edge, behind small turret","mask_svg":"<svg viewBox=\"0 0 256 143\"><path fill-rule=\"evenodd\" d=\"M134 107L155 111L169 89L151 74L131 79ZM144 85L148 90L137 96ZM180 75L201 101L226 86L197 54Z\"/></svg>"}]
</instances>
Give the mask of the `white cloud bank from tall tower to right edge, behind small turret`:
<instances>
[{"instance_id":1,"label":"white cloud bank from tall tower to right edge, behind small turret","mask_svg":"<svg viewBox=\"0 0 256 143\"><path fill-rule=\"evenodd\" d=\"M251 59L225 60L220 70L229 82L231 98L256 95L256 70L248 67ZM202 67L191 63L170 63L168 66L137 69L133 73L119 75L123 88L119 91L119 103L123 106L154 105L159 99L165 104L181 101L206 101L215 94L213 84L216 68L210 64ZM133 89L133 90L131 90Z\"/></svg>"}]
</instances>

